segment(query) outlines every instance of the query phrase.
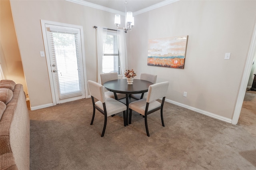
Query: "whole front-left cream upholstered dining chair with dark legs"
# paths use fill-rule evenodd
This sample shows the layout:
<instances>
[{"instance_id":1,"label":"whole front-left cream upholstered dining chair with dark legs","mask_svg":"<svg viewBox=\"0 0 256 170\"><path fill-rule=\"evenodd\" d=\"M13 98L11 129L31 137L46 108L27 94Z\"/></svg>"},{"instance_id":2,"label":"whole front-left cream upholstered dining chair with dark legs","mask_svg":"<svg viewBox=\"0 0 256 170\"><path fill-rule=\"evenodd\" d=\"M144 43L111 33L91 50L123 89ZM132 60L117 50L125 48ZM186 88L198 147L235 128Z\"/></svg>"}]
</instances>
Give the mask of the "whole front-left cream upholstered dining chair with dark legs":
<instances>
[{"instance_id":1,"label":"whole front-left cream upholstered dining chair with dark legs","mask_svg":"<svg viewBox=\"0 0 256 170\"><path fill-rule=\"evenodd\" d=\"M101 137L104 136L108 116L123 112L124 126L126 126L126 105L113 98L106 98L104 93L104 87L99 83L88 80L88 87L90 90L93 105L91 125L94 121L95 109L97 109L98 111L100 111L100 113L104 115L104 127L102 130ZM98 99L98 101L95 102L94 98Z\"/></svg>"}]
</instances>

